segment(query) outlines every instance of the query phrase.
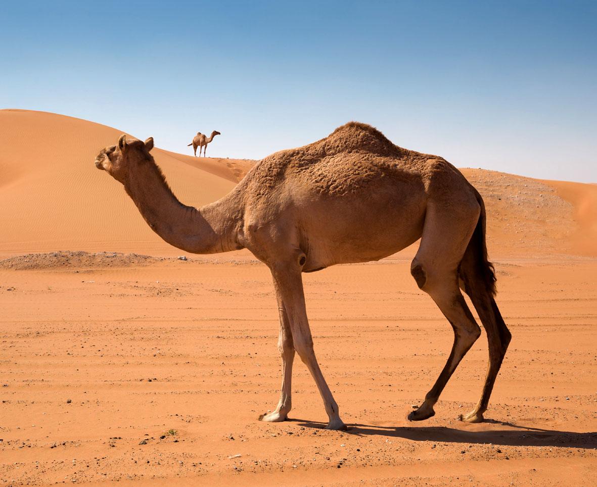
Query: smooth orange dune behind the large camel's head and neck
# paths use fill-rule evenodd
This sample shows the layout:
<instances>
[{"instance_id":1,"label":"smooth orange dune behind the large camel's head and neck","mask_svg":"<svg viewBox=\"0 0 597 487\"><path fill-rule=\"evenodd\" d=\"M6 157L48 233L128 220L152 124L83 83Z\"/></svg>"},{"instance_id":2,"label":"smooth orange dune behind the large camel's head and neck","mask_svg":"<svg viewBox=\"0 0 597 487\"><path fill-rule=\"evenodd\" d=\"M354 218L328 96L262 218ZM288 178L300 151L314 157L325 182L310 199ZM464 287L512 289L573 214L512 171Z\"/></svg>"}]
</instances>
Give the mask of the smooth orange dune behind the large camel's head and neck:
<instances>
[{"instance_id":1,"label":"smooth orange dune behind the large camel's head and neck","mask_svg":"<svg viewBox=\"0 0 597 487\"><path fill-rule=\"evenodd\" d=\"M176 254L119 184L93 165L123 131L54 113L0 110L0 255L55 250ZM180 200L199 206L235 186L232 172L196 169L155 149ZM198 170L199 169L199 170Z\"/></svg>"}]
</instances>

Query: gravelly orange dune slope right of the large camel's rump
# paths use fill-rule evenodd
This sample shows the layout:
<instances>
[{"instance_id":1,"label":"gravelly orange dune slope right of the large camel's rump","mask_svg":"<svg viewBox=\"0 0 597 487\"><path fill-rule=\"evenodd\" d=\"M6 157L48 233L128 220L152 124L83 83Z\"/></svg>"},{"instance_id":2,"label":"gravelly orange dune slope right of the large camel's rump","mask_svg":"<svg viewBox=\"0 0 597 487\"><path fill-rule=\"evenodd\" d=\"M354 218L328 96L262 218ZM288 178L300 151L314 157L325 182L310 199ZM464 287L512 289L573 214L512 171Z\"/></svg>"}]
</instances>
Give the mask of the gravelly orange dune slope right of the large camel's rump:
<instances>
[{"instance_id":1,"label":"gravelly orange dune slope right of the large camel's rump","mask_svg":"<svg viewBox=\"0 0 597 487\"><path fill-rule=\"evenodd\" d=\"M597 256L597 186L461 169L487 208L487 245L498 256Z\"/></svg>"}]
</instances>

